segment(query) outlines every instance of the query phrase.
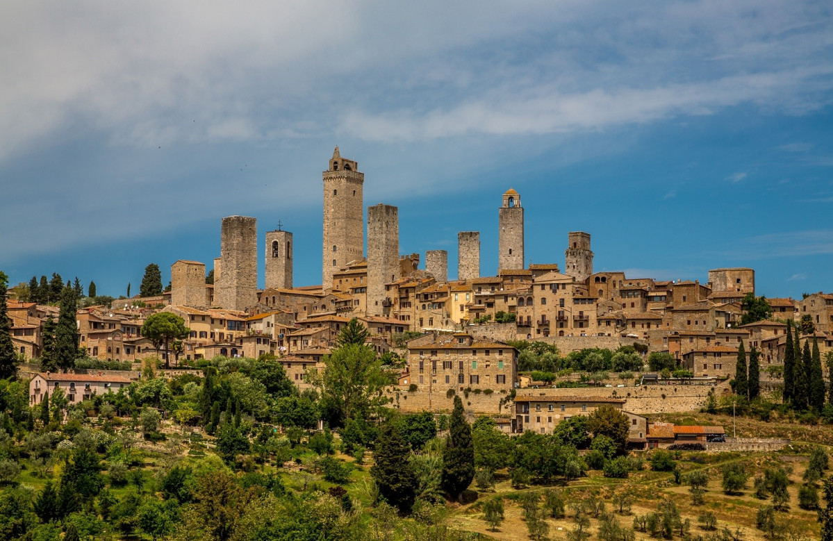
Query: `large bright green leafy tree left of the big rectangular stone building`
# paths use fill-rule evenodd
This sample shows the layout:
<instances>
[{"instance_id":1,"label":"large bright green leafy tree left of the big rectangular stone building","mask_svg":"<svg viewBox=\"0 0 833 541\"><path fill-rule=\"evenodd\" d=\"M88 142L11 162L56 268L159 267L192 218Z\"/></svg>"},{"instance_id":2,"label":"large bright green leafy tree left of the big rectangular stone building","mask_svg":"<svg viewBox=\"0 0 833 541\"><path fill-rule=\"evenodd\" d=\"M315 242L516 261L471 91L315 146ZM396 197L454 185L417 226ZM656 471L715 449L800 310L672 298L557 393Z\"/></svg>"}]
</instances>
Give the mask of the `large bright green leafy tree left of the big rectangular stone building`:
<instances>
[{"instance_id":1,"label":"large bright green leafy tree left of the big rectangular stone building","mask_svg":"<svg viewBox=\"0 0 833 541\"><path fill-rule=\"evenodd\" d=\"M391 378L371 348L343 345L324 363L323 370L310 370L309 380L321 392L320 404L331 426L343 426L345 419L372 417L387 403L382 390Z\"/></svg>"}]
</instances>

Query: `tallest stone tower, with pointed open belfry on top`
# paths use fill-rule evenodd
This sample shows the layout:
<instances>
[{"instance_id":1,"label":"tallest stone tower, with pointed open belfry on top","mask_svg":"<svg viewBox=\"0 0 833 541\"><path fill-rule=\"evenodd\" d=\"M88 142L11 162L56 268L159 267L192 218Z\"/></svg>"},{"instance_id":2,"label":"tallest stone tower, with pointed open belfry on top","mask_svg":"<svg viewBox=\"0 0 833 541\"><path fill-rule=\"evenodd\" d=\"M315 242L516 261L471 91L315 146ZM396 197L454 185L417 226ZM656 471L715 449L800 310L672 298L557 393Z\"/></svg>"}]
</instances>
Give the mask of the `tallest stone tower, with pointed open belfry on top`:
<instances>
[{"instance_id":1,"label":"tallest stone tower, with pointed open belfry on top","mask_svg":"<svg viewBox=\"0 0 833 541\"><path fill-rule=\"evenodd\" d=\"M332 152L330 167L324 171L324 249L322 285L332 290L332 275L350 261L364 256L364 173L355 161ZM397 258L398 258L397 254Z\"/></svg>"}]
</instances>

